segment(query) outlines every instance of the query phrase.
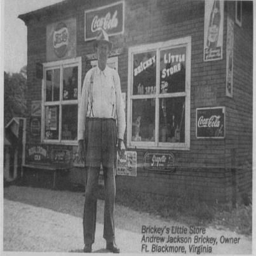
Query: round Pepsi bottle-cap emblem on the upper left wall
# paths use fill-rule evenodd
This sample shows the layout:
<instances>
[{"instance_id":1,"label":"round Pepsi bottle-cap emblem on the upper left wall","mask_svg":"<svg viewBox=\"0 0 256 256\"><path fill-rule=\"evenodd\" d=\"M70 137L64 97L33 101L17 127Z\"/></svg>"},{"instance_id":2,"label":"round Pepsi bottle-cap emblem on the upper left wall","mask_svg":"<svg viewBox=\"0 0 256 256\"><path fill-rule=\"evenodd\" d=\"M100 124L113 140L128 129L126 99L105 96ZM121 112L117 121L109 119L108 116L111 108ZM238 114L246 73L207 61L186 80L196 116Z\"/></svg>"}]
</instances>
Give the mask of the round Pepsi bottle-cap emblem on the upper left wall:
<instances>
[{"instance_id":1,"label":"round Pepsi bottle-cap emblem on the upper left wall","mask_svg":"<svg viewBox=\"0 0 256 256\"><path fill-rule=\"evenodd\" d=\"M69 44L69 30L64 22L60 22L53 32L53 49L59 58L64 57Z\"/></svg>"}]
</instances>

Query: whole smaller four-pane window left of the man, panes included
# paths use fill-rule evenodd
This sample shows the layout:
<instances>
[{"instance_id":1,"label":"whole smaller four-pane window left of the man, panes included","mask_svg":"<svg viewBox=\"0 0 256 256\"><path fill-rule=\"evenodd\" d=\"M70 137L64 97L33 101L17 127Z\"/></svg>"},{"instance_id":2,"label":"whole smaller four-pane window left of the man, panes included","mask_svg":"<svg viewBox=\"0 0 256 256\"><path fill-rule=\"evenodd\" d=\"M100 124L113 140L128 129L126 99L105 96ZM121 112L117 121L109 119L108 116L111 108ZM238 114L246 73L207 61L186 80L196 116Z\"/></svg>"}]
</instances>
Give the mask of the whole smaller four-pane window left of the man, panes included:
<instances>
[{"instance_id":1,"label":"whole smaller four-pane window left of the man, panes included","mask_svg":"<svg viewBox=\"0 0 256 256\"><path fill-rule=\"evenodd\" d=\"M81 58L44 64L43 141L75 143Z\"/></svg>"}]
</instances>

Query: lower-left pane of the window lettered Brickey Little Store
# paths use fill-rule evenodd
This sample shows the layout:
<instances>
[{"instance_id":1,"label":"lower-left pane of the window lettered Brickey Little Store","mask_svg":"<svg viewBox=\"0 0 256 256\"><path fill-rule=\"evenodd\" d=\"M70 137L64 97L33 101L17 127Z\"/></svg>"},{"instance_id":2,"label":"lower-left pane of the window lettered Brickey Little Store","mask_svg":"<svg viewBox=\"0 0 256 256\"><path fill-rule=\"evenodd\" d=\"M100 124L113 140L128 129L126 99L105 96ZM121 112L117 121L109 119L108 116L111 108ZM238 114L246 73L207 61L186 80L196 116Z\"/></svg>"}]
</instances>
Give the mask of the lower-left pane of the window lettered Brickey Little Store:
<instances>
[{"instance_id":1,"label":"lower-left pane of the window lettered Brickey Little Store","mask_svg":"<svg viewBox=\"0 0 256 256\"><path fill-rule=\"evenodd\" d=\"M154 142L155 104L154 98L132 101L131 140Z\"/></svg>"}]
</instances>

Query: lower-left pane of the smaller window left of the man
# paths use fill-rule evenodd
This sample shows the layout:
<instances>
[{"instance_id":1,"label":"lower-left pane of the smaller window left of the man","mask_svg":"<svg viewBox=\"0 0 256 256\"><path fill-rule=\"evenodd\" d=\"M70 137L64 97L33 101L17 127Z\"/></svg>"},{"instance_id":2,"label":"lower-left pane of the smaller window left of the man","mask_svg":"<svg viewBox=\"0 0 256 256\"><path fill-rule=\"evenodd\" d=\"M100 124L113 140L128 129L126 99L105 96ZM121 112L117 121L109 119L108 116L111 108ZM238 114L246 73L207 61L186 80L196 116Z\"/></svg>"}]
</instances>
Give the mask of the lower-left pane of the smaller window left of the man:
<instances>
[{"instance_id":1,"label":"lower-left pane of the smaller window left of the man","mask_svg":"<svg viewBox=\"0 0 256 256\"><path fill-rule=\"evenodd\" d=\"M59 106L45 107L45 138L58 139Z\"/></svg>"}]
</instances>

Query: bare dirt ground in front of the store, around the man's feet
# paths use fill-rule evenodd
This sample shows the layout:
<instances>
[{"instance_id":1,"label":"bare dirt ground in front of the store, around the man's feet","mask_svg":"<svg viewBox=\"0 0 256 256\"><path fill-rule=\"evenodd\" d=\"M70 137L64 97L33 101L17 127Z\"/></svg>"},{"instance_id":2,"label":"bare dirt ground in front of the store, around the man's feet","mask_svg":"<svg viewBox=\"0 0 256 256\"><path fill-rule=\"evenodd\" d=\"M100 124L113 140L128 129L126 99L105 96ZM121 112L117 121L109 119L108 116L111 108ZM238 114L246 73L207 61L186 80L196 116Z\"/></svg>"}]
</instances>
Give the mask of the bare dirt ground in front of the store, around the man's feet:
<instances>
[{"instance_id":1,"label":"bare dirt ground in front of the store, around the man's feet","mask_svg":"<svg viewBox=\"0 0 256 256\"><path fill-rule=\"evenodd\" d=\"M34 187L10 186L4 188L4 253L10 252L83 252L83 204L84 193L71 191L53 191ZM104 201L98 200L97 228L93 252L106 253L103 234ZM182 223L163 220L147 213L135 212L125 206L116 205L115 209L116 243L121 253L140 253L142 244L152 253L152 244L142 241L142 226L152 227L158 232L167 227L183 227ZM189 227L187 227L188 230ZM181 231L180 231L181 232ZM161 236L160 234L146 234ZM168 239L164 232L162 236ZM172 234L173 237L191 237L193 243L168 243L168 246L185 246L187 254L189 245L194 244L196 234ZM201 234L198 234L200 237ZM252 254L252 238L227 230L206 227L203 237L216 238L217 245L210 245L210 240L196 246L212 247L211 254ZM226 243L222 243L226 238ZM233 238L227 240L227 238ZM161 246L165 243L159 244ZM227 243L238 241L238 243ZM145 252L145 247L144 247ZM209 252L208 252L209 253ZM170 253L168 253L170 254Z\"/></svg>"}]
</instances>

